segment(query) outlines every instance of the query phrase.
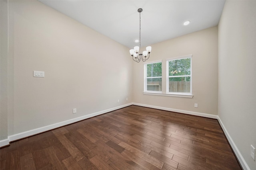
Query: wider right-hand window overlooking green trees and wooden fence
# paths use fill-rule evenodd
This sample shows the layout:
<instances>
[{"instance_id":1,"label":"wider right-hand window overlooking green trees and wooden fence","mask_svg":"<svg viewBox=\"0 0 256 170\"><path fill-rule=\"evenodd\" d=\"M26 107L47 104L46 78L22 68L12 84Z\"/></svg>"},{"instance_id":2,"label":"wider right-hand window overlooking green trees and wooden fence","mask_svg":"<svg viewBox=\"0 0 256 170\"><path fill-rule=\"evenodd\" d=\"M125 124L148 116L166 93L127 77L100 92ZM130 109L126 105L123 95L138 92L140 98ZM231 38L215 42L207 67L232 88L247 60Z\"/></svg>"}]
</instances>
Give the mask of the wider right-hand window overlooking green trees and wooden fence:
<instances>
[{"instance_id":1,"label":"wider right-hand window overlooking green trees and wooden fence","mask_svg":"<svg viewBox=\"0 0 256 170\"><path fill-rule=\"evenodd\" d=\"M191 59L192 55L167 60L168 94L192 94Z\"/></svg>"}]
</instances>

